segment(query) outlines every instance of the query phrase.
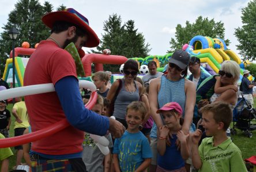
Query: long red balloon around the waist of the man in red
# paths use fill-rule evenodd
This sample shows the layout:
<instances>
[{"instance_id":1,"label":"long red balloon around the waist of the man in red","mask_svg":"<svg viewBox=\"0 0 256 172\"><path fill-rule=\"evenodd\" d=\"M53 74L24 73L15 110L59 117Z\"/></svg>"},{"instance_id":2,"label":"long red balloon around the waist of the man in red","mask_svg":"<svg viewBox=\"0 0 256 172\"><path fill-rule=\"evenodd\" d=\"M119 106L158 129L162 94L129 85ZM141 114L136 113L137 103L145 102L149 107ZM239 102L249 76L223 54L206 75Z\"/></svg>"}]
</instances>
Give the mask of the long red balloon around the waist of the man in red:
<instances>
[{"instance_id":1,"label":"long red balloon around the waist of the man in red","mask_svg":"<svg viewBox=\"0 0 256 172\"><path fill-rule=\"evenodd\" d=\"M85 104L85 107L91 110L92 107L96 104L96 101L97 101L97 92L92 92L92 95L88 103ZM0 148L14 147L21 144L34 142L35 140L46 138L47 136L55 134L56 132L61 131L64 128L69 126L70 126L69 122L67 122L66 119L63 119L60 122L52 124L51 126L48 126L39 131L31 132L29 134L24 134L21 136L15 136L13 138L0 139Z\"/></svg>"}]
</instances>

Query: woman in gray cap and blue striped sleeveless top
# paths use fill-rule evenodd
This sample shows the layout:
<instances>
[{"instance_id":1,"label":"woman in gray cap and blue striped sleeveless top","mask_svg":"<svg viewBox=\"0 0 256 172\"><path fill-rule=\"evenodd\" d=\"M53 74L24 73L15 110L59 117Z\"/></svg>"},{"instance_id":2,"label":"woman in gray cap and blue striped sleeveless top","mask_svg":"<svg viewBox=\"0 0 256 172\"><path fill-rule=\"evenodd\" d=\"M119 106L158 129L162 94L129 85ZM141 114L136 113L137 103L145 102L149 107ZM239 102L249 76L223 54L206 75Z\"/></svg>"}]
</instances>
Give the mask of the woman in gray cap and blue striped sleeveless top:
<instances>
[{"instance_id":1,"label":"woman in gray cap and blue striped sleeveless top","mask_svg":"<svg viewBox=\"0 0 256 172\"><path fill-rule=\"evenodd\" d=\"M150 146L153 151L150 171L155 171L157 165L157 128L163 126L161 116L156 114L159 108L171 101L179 103L183 109L184 118L182 131L189 134L195 105L195 86L193 82L186 79L189 62L190 56L187 52L176 50L169 60L167 75L155 79L149 85L149 105L155 122L150 134Z\"/></svg>"}]
</instances>

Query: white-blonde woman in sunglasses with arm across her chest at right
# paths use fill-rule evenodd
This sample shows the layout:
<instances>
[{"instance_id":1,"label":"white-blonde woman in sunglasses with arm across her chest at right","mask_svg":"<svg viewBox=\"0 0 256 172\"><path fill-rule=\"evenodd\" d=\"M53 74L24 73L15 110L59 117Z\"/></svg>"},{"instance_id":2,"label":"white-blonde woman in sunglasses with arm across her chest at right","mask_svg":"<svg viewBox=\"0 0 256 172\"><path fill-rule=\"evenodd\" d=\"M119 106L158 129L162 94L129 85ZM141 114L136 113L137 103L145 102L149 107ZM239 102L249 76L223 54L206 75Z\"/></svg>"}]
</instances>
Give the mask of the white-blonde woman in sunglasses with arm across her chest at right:
<instances>
[{"instance_id":1,"label":"white-blonde woman in sunglasses with arm across her chest at right","mask_svg":"<svg viewBox=\"0 0 256 172\"><path fill-rule=\"evenodd\" d=\"M224 61L219 71L220 76L216 76L214 94L210 97L210 102L224 101L235 107L238 100L238 81L240 76L240 67L235 61Z\"/></svg>"}]
</instances>

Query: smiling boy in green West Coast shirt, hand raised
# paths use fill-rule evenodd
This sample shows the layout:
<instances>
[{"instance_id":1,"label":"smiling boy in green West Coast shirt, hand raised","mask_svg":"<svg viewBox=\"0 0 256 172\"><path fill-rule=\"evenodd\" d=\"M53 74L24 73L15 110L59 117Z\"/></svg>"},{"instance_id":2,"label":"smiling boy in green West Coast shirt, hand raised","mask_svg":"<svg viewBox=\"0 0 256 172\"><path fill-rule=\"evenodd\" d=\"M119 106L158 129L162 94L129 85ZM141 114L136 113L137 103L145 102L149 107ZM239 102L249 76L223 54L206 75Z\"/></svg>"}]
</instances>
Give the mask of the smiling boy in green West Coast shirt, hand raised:
<instances>
[{"instance_id":1,"label":"smiling boy in green West Coast shirt, hand raised","mask_svg":"<svg viewBox=\"0 0 256 172\"><path fill-rule=\"evenodd\" d=\"M200 171L247 171L244 165L241 151L227 136L226 130L232 122L232 110L226 103L205 105L201 108L202 126L205 134L212 136L202 140L198 148L198 142L202 131L197 130L191 134L192 162Z\"/></svg>"}]
</instances>

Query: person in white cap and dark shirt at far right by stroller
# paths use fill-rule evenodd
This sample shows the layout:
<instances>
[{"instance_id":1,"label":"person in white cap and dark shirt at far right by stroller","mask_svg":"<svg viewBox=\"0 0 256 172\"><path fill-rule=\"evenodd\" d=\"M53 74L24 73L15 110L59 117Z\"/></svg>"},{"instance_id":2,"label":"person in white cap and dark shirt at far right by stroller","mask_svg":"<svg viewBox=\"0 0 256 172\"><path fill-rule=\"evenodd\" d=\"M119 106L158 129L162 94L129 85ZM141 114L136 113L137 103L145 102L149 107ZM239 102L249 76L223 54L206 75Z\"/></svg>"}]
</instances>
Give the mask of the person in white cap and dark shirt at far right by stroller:
<instances>
[{"instance_id":1,"label":"person in white cap and dark shirt at far right by stroller","mask_svg":"<svg viewBox=\"0 0 256 172\"><path fill-rule=\"evenodd\" d=\"M243 78L242 78L242 88L243 88L243 96L246 97L247 100L253 105L253 86L249 79L247 78L250 74L250 71L244 70L243 71Z\"/></svg>"}]
</instances>

